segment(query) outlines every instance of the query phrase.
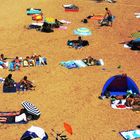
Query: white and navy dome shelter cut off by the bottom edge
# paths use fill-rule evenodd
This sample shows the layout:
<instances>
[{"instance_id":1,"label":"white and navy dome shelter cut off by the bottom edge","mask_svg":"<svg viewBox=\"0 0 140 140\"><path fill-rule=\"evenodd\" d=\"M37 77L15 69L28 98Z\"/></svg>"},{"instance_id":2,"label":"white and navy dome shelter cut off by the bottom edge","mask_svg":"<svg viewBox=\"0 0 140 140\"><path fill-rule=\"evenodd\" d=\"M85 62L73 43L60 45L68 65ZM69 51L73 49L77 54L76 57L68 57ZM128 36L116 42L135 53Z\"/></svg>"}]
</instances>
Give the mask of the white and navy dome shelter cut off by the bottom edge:
<instances>
[{"instance_id":1,"label":"white and navy dome shelter cut off by the bottom edge","mask_svg":"<svg viewBox=\"0 0 140 140\"><path fill-rule=\"evenodd\" d=\"M33 139L40 139L40 140L48 140L47 133L40 127L31 126L20 138L20 140L33 140Z\"/></svg>"}]
</instances>

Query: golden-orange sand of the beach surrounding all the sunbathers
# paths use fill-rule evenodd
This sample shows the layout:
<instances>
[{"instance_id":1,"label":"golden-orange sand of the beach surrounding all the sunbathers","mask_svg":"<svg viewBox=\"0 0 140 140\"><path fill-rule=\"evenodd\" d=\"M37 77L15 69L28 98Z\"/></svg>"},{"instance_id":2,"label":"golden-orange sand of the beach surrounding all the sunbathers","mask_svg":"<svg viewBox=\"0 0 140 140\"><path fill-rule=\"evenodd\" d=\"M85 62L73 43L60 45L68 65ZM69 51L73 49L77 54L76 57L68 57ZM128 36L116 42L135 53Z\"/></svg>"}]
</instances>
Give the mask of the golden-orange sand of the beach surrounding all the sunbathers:
<instances>
[{"instance_id":1,"label":"golden-orange sand of the beach surrounding all the sunbathers","mask_svg":"<svg viewBox=\"0 0 140 140\"><path fill-rule=\"evenodd\" d=\"M79 12L64 11L63 4L73 3ZM4 94L0 84L0 111L21 109L24 100L35 104L41 111L41 117L28 124L0 124L0 140L19 140L32 125L42 127L49 135L51 129L64 130L63 123L73 128L70 140L121 140L120 131L136 129L139 125L139 113L132 110L114 110L109 100L99 100L105 82L113 75L127 73L140 87L140 53L126 49L121 44L131 39L131 33L140 30L139 0L117 0L116 3L93 0L1 0L0 53L6 57L26 57L34 53L45 56L47 66L21 68L12 72L15 81L27 75L36 85L35 91ZM27 8L41 8L48 17L65 19L72 23L67 30L55 29L53 33L41 33L24 28L32 22L26 15ZM101 27L98 23L83 24L80 21L91 14L104 14L108 7L116 16L113 27ZM82 37L89 46L73 49L67 46L67 40L77 39L73 30L86 27L92 36ZM80 69L66 69L59 65L61 61L83 59L92 56L103 59L104 66ZM121 69L117 67L121 65ZM108 70L102 70L106 68ZM0 69L0 77L10 72Z\"/></svg>"}]
</instances>

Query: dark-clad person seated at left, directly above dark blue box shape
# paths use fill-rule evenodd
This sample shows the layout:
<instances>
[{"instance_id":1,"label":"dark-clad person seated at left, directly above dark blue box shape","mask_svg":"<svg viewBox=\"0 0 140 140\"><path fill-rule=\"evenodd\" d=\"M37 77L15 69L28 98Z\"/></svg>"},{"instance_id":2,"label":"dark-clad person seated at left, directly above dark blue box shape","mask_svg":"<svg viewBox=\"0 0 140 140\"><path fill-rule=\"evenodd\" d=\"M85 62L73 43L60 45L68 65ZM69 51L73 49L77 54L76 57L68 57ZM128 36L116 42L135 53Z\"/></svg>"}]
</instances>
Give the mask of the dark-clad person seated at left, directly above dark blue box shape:
<instances>
[{"instance_id":1,"label":"dark-clad person seated at left, directly above dark blue box shape","mask_svg":"<svg viewBox=\"0 0 140 140\"><path fill-rule=\"evenodd\" d=\"M9 74L4 80L4 87L14 87L15 81L12 79L12 74Z\"/></svg>"}]
</instances>

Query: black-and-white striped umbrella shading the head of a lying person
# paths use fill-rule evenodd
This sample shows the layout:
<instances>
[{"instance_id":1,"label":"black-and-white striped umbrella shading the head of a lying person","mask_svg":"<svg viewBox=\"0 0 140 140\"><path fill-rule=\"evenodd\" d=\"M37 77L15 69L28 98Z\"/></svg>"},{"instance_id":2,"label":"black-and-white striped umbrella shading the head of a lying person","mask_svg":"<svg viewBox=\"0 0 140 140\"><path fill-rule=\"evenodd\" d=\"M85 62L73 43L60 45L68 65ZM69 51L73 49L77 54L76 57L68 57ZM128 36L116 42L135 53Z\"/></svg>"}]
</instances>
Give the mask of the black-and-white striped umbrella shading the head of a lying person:
<instances>
[{"instance_id":1,"label":"black-and-white striped umbrella shading the head of a lying person","mask_svg":"<svg viewBox=\"0 0 140 140\"><path fill-rule=\"evenodd\" d=\"M39 116L41 114L40 110L33 105L32 103L28 101L24 101L21 103L21 105L30 113L36 116Z\"/></svg>"}]
</instances>

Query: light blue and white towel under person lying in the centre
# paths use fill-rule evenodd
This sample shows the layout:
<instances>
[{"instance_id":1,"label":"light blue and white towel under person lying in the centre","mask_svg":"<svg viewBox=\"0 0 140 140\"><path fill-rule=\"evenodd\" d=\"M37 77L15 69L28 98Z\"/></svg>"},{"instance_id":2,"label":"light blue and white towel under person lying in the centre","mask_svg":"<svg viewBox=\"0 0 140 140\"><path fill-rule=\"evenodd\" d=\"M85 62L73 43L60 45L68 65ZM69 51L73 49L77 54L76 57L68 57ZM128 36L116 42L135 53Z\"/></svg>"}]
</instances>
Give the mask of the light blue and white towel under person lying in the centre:
<instances>
[{"instance_id":1,"label":"light blue and white towel under person lying in the centre","mask_svg":"<svg viewBox=\"0 0 140 140\"><path fill-rule=\"evenodd\" d=\"M100 65L103 65L103 60L99 59ZM62 61L60 62L61 66L64 66L68 69L72 68L82 68L87 67L88 65L83 62L83 60L70 60L70 61Z\"/></svg>"}]
</instances>

